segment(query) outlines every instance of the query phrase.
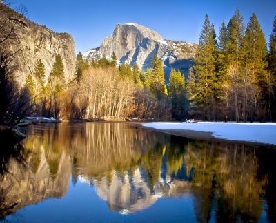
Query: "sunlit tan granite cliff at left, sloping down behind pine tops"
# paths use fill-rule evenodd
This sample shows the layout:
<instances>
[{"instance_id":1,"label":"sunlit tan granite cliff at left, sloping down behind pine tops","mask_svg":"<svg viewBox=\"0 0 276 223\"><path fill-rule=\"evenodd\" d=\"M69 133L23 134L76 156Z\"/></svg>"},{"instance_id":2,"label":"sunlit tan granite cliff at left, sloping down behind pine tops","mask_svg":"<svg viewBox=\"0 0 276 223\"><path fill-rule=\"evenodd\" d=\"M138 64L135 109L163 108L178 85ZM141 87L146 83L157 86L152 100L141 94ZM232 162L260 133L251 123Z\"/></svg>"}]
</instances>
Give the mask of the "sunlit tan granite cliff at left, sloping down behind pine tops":
<instances>
[{"instance_id":1,"label":"sunlit tan granite cliff at left, sloping down behind pine tops","mask_svg":"<svg viewBox=\"0 0 276 223\"><path fill-rule=\"evenodd\" d=\"M67 33L56 33L43 25L37 25L0 4L1 23L10 23L15 19L19 21L14 25L16 38L8 39L5 46L10 52L17 52L14 59L14 65L17 67L14 70L19 85L22 86L26 76L34 72L37 59L41 59L45 65L46 78L48 78L57 54L61 54L66 81L70 80L75 70L75 43L72 36ZM7 31L9 32L8 29Z\"/></svg>"}]
</instances>

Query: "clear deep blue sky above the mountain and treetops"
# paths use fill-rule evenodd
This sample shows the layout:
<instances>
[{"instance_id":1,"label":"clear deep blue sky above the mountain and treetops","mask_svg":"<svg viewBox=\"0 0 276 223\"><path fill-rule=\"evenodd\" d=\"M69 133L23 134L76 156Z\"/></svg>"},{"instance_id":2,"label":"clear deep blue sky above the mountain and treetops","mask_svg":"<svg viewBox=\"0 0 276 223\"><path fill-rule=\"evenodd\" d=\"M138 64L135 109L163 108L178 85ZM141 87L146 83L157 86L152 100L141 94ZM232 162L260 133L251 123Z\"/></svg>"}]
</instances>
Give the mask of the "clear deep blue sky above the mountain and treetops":
<instances>
[{"instance_id":1,"label":"clear deep blue sky above the mountain and treetops","mask_svg":"<svg viewBox=\"0 0 276 223\"><path fill-rule=\"evenodd\" d=\"M276 16L276 0L12 0L16 7L26 6L28 18L55 32L68 32L75 40L76 53L98 47L119 23L138 23L157 31L164 39L198 43L205 14L217 34L238 7L248 23L257 15L269 41Z\"/></svg>"}]
</instances>

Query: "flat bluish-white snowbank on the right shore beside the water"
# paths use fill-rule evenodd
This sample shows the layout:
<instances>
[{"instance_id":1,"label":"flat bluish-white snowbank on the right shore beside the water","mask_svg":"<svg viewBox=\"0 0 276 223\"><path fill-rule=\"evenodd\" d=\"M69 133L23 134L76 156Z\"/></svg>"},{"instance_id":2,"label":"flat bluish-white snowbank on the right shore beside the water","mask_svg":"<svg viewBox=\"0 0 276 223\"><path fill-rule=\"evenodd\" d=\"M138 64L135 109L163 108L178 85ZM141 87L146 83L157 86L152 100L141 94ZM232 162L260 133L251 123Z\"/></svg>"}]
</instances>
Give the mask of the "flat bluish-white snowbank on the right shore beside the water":
<instances>
[{"instance_id":1,"label":"flat bluish-white snowbank on the right shore beside the water","mask_svg":"<svg viewBox=\"0 0 276 223\"><path fill-rule=\"evenodd\" d=\"M215 138L276 145L275 123L145 123L144 127L160 130L193 130L211 132Z\"/></svg>"}]
</instances>

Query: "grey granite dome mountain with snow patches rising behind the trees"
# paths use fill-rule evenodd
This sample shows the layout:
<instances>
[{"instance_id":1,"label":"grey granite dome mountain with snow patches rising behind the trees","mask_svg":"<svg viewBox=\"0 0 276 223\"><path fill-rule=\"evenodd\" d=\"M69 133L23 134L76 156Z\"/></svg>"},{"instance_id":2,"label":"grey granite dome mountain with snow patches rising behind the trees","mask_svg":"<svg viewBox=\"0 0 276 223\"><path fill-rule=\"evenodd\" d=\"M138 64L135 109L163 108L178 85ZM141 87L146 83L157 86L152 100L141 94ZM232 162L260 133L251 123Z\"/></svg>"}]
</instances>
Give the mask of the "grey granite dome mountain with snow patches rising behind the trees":
<instances>
[{"instance_id":1,"label":"grey granite dome mountain with snow patches rising behind the trees","mask_svg":"<svg viewBox=\"0 0 276 223\"><path fill-rule=\"evenodd\" d=\"M116 25L113 34L103 40L100 47L84 53L88 60L99 59L101 56L110 58L115 52L118 63L137 63L141 69L150 67L155 54L164 63L166 78L171 67L188 74L195 56L196 44L164 40L157 32L144 26L127 23Z\"/></svg>"}]
</instances>

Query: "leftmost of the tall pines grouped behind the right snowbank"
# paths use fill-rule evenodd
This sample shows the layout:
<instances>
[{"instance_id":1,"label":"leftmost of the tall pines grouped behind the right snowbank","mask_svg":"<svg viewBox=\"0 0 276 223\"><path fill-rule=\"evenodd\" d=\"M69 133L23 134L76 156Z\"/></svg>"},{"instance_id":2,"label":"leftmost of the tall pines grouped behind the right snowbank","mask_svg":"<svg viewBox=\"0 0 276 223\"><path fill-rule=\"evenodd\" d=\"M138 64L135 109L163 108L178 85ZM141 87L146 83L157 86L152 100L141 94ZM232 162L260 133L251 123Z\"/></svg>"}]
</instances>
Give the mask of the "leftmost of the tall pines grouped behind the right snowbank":
<instances>
[{"instance_id":1,"label":"leftmost of the tall pines grouped behind the right snowbank","mask_svg":"<svg viewBox=\"0 0 276 223\"><path fill-rule=\"evenodd\" d=\"M214 35L206 14L195 55L197 97L193 99L193 103L197 103L198 113L203 114L205 119L215 119L215 52Z\"/></svg>"}]
</instances>

